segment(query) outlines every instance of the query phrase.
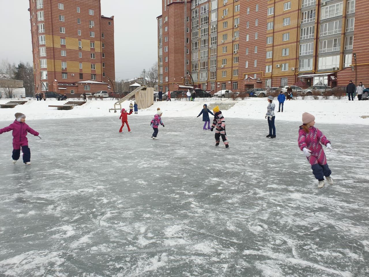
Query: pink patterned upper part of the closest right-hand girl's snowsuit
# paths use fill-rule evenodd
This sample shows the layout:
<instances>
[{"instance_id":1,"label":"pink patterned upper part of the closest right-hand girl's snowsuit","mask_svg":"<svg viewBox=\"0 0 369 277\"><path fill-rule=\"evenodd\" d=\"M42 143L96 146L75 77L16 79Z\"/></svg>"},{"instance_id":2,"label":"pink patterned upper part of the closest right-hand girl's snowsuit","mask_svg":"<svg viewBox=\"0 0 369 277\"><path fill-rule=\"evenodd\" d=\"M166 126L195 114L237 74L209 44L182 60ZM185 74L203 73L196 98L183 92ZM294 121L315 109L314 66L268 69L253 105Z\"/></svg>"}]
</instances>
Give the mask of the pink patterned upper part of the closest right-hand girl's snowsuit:
<instances>
[{"instance_id":1,"label":"pink patterned upper part of the closest right-hand girl's snowsuit","mask_svg":"<svg viewBox=\"0 0 369 277\"><path fill-rule=\"evenodd\" d=\"M311 156L307 157L307 160L311 165L327 163L327 158L322 147L322 144L327 146L327 143L331 143L324 134L315 127L309 128L309 133L307 134L302 126L299 130L299 148L302 151L303 148L311 150Z\"/></svg>"}]
</instances>

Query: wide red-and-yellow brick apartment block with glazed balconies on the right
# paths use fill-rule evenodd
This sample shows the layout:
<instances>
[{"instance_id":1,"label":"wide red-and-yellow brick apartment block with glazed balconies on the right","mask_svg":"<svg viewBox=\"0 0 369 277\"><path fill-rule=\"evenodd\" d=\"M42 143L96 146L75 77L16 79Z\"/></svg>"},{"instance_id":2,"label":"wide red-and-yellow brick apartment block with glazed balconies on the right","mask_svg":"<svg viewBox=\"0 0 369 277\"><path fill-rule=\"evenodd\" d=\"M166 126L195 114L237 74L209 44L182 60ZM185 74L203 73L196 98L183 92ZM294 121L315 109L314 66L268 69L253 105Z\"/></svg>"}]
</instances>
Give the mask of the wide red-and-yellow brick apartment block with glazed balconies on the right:
<instances>
[{"instance_id":1,"label":"wide red-and-yellow brick apartment block with glazed balconies on the right","mask_svg":"<svg viewBox=\"0 0 369 277\"><path fill-rule=\"evenodd\" d=\"M367 0L162 0L159 89L369 85L368 12Z\"/></svg>"}]
</instances>

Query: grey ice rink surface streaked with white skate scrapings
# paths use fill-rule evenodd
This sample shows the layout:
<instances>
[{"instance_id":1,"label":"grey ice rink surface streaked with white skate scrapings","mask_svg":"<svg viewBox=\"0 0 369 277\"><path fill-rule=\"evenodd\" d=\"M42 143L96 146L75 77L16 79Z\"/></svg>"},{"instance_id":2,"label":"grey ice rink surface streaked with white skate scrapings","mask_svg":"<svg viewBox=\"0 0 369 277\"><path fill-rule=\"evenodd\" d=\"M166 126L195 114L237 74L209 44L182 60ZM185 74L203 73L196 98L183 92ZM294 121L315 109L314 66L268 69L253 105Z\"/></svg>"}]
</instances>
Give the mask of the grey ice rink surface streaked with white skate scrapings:
<instances>
[{"instance_id":1,"label":"grey ice rink surface streaked with white skate scrapings","mask_svg":"<svg viewBox=\"0 0 369 277\"><path fill-rule=\"evenodd\" d=\"M366 126L317 123L336 182L318 189L296 122L271 140L226 117L226 150L200 119L163 116L152 141L151 117L28 120L28 167L0 136L0 276L369 276Z\"/></svg>"}]
</instances>

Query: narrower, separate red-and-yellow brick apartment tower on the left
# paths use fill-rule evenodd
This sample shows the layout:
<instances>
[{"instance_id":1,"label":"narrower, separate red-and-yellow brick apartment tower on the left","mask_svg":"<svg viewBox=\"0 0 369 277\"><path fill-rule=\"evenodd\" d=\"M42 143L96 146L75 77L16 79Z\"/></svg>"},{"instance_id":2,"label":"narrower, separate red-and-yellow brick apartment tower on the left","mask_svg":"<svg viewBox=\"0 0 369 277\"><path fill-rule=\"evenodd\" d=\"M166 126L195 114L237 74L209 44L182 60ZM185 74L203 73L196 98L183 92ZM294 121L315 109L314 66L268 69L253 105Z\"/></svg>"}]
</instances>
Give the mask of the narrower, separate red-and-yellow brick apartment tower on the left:
<instances>
[{"instance_id":1,"label":"narrower, separate red-and-yellow brick apartment tower on the left","mask_svg":"<svg viewBox=\"0 0 369 277\"><path fill-rule=\"evenodd\" d=\"M113 92L114 17L100 0L29 1L35 93Z\"/></svg>"}]
</instances>

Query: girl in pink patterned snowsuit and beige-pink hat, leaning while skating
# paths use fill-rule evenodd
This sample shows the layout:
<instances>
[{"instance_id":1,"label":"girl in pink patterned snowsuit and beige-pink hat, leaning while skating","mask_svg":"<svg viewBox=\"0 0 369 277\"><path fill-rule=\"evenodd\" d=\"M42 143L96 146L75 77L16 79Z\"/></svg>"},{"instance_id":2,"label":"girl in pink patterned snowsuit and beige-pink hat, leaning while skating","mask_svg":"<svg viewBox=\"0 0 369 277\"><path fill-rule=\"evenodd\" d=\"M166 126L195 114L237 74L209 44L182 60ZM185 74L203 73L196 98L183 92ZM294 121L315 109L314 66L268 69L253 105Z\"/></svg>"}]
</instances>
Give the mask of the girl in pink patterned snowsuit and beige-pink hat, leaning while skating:
<instances>
[{"instance_id":1,"label":"girl in pink patterned snowsuit and beige-pink hat, leaning while skating","mask_svg":"<svg viewBox=\"0 0 369 277\"><path fill-rule=\"evenodd\" d=\"M311 169L316 179L318 179L318 188L324 187L324 176L330 185L333 185L333 179L330 177L332 171L328 167L327 158L322 144L332 150L331 142L327 140L324 134L314 127L315 117L310 113L303 113L303 125L299 130L299 147L304 152L307 160L311 164Z\"/></svg>"}]
</instances>

